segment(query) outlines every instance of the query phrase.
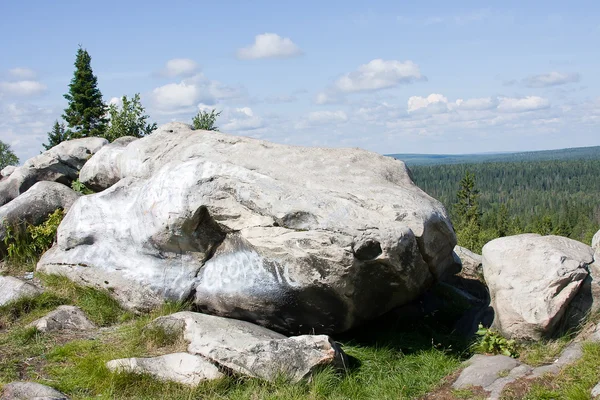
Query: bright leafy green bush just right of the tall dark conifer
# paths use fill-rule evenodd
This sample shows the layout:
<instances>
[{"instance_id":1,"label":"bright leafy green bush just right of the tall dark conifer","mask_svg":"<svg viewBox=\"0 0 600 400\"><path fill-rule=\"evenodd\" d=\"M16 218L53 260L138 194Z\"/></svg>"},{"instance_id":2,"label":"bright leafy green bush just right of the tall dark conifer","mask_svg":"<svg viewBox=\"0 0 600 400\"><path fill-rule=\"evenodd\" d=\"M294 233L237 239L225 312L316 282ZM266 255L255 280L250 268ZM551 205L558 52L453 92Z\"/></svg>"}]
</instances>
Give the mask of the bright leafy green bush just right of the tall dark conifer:
<instances>
[{"instance_id":1,"label":"bright leafy green bush just right of the tall dark conifer","mask_svg":"<svg viewBox=\"0 0 600 400\"><path fill-rule=\"evenodd\" d=\"M136 93L132 99L123 96L122 106L116 104L108 106L110 126L104 137L110 142L123 136L143 137L149 135L156 129L156 123L148 123L150 118L145 115L145 109L140 102L140 95Z\"/></svg>"}]
</instances>

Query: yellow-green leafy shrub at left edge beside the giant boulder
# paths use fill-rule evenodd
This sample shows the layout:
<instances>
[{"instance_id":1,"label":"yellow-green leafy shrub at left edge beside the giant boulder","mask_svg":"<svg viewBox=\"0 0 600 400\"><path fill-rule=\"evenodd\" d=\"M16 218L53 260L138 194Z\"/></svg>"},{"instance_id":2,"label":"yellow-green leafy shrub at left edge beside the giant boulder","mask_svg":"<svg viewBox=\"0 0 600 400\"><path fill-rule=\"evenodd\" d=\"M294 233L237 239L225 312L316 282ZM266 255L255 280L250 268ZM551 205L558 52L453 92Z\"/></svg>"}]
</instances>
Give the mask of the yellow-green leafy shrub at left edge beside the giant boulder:
<instances>
[{"instance_id":1,"label":"yellow-green leafy shrub at left edge beside the giant boulder","mask_svg":"<svg viewBox=\"0 0 600 400\"><path fill-rule=\"evenodd\" d=\"M7 224L4 237L6 260L11 264L35 263L52 246L63 217L64 212L59 208L39 225Z\"/></svg>"}]
</instances>

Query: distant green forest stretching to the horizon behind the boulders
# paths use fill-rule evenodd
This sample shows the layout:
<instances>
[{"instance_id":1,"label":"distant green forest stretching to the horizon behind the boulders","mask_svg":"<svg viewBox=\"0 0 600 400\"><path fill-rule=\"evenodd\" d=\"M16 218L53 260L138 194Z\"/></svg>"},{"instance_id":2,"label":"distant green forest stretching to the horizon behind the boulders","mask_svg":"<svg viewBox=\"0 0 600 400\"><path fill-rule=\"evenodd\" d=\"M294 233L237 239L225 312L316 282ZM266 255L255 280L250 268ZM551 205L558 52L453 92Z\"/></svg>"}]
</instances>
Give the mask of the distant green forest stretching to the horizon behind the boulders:
<instances>
[{"instance_id":1,"label":"distant green forest stretching to the horizon behind the boulders","mask_svg":"<svg viewBox=\"0 0 600 400\"><path fill-rule=\"evenodd\" d=\"M600 229L600 158L595 157L600 147L586 149L588 157L581 159L569 159L580 149L568 149L575 152L559 160L413 165L410 170L415 183L451 215L459 182L466 171L475 175L482 244L498 236L498 224L508 223L508 234L556 234L589 245Z\"/></svg>"}]
</instances>

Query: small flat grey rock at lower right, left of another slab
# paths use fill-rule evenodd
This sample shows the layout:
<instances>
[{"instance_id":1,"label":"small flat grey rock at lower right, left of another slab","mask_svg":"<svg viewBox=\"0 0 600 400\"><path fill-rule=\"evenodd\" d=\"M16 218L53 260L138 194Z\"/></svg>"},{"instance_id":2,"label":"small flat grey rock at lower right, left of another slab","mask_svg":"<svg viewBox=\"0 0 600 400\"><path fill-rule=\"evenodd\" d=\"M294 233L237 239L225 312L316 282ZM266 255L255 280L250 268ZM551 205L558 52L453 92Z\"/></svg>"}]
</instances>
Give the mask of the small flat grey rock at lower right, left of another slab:
<instances>
[{"instance_id":1,"label":"small flat grey rock at lower right, left of another slab","mask_svg":"<svg viewBox=\"0 0 600 400\"><path fill-rule=\"evenodd\" d=\"M452 384L454 389L464 389L469 386L480 386L486 389L496 380L508 376L514 368L521 365L514 358L507 356L482 354L475 354L467 361L467 364L468 366Z\"/></svg>"}]
</instances>

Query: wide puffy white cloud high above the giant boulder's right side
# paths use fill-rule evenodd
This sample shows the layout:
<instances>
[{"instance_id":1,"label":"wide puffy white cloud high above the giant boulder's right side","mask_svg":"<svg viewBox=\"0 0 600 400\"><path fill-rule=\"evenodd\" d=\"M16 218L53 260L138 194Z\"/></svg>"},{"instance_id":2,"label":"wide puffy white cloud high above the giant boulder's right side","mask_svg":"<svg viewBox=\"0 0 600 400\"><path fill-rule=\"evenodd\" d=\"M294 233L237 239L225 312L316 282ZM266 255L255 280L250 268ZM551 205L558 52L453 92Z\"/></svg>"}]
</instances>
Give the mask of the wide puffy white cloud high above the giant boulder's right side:
<instances>
[{"instance_id":1,"label":"wide puffy white cloud high above the giant boulder's right side","mask_svg":"<svg viewBox=\"0 0 600 400\"><path fill-rule=\"evenodd\" d=\"M334 87L340 92L350 93L386 89L426 79L421 75L419 66L410 60L375 59L339 78Z\"/></svg>"}]
</instances>

